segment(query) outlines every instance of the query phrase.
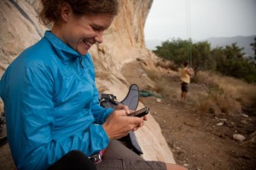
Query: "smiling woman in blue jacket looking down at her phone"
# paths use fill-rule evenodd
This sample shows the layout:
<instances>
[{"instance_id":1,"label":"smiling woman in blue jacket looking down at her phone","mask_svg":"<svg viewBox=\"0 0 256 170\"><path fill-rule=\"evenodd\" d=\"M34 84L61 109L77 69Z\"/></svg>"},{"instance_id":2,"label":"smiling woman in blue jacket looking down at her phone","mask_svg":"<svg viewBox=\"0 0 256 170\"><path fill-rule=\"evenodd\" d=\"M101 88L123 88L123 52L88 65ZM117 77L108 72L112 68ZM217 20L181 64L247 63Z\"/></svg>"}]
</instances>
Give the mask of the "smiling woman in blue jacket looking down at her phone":
<instances>
[{"instance_id":1,"label":"smiling woman in blue jacket looking down at her phone","mask_svg":"<svg viewBox=\"0 0 256 170\"><path fill-rule=\"evenodd\" d=\"M143 127L145 116L126 116L130 111L125 105L113 111L98 104L95 70L88 50L102 43L103 31L118 13L117 0L42 3L40 19L46 26L53 24L51 31L9 65L0 86L16 167L54 169L56 164L64 165L83 154L94 158L106 148L97 169L122 169L123 162L137 168L177 167L143 161L114 140Z\"/></svg>"}]
</instances>

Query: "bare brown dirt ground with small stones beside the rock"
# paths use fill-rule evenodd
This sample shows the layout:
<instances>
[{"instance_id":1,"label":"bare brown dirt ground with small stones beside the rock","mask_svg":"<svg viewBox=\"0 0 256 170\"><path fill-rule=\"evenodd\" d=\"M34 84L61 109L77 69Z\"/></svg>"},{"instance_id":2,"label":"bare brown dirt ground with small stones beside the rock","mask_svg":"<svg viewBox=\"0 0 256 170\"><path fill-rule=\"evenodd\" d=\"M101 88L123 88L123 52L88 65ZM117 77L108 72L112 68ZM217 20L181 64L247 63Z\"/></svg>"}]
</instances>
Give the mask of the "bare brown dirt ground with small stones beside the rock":
<instances>
[{"instance_id":1,"label":"bare brown dirt ground with small stones beside the rock","mask_svg":"<svg viewBox=\"0 0 256 170\"><path fill-rule=\"evenodd\" d=\"M138 68L141 66L134 62L126 65L122 73L129 83L137 83L139 87L145 88L145 72ZM177 77L171 74L170 78L175 81ZM189 95L201 90L207 89L192 83ZM255 111L253 114L247 113L248 117L217 117L212 113L195 113L193 105L183 104L179 99L156 101L155 97L144 97L141 101L150 107L151 115L160 124L177 164L189 170L256 169L255 141L248 142L256 130ZM233 139L235 133L241 133L247 139L239 142Z\"/></svg>"}]
</instances>

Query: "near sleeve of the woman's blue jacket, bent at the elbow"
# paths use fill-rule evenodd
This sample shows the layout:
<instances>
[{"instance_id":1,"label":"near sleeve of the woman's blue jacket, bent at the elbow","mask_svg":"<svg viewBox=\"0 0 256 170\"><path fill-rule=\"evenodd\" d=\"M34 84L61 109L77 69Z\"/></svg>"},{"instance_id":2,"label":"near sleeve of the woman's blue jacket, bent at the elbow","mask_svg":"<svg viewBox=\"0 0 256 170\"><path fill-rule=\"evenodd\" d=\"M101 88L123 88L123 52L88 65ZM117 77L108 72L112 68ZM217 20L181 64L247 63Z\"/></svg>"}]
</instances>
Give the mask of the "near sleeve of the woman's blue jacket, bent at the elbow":
<instances>
[{"instance_id":1,"label":"near sleeve of the woman's blue jacket, bent at the elbow","mask_svg":"<svg viewBox=\"0 0 256 170\"><path fill-rule=\"evenodd\" d=\"M90 156L108 146L108 135L103 127L86 120L84 125L89 124L89 127L77 127L78 133L62 134L62 139L53 139L53 129L58 127L55 127L51 71L44 63L36 63L28 65L24 72L24 77L20 74L15 77L20 81L11 85L10 90L15 90L15 86L19 90L13 91L14 96L7 101L11 116L9 127L15 130L9 139L14 145L13 155L18 169L46 169L71 150L82 150ZM96 105L94 108L98 110Z\"/></svg>"}]
</instances>

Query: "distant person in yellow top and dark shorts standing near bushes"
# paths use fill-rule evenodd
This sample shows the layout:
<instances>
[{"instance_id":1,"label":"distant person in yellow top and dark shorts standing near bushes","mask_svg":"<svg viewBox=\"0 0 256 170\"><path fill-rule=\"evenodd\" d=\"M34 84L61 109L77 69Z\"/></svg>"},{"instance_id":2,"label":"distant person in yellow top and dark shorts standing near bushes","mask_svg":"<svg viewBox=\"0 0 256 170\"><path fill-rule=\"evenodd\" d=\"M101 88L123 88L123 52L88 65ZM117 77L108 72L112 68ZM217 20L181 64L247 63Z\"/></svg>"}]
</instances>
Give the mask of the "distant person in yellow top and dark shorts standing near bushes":
<instances>
[{"instance_id":1,"label":"distant person in yellow top and dark shorts standing near bushes","mask_svg":"<svg viewBox=\"0 0 256 170\"><path fill-rule=\"evenodd\" d=\"M194 75L194 71L192 68L189 68L189 62L185 61L183 63L183 68L180 71L180 78L181 78L181 101L184 102L187 98L187 94L189 92L189 83L190 77Z\"/></svg>"}]
</instances>

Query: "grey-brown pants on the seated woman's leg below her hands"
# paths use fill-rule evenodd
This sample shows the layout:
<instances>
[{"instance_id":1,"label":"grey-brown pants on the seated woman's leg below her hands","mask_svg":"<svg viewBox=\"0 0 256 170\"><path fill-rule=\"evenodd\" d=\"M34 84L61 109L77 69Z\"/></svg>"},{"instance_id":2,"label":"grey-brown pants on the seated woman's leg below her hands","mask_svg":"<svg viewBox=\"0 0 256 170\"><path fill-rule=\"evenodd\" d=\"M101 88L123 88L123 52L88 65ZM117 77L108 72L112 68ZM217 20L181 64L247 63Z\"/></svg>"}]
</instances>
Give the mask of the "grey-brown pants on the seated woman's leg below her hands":
<instances>
[{"instance_id":1,"label":"grey-brown pants on the seated woman's leg below her hands","mask_svg":"<svg viewBox=\"0 0 256 170\"><path fill-rule=\"evenodd\" d=\"M161 161L144 161L132 150L125 147L119 140L108 144L101 163L96 164L97 170L130 170L154 169L166 170L166 164Z\"/></svg>"}]
</instances>

